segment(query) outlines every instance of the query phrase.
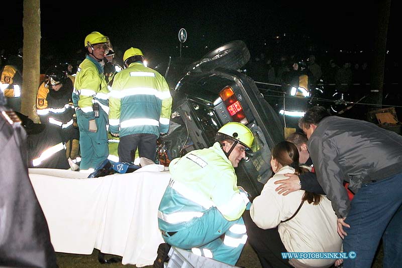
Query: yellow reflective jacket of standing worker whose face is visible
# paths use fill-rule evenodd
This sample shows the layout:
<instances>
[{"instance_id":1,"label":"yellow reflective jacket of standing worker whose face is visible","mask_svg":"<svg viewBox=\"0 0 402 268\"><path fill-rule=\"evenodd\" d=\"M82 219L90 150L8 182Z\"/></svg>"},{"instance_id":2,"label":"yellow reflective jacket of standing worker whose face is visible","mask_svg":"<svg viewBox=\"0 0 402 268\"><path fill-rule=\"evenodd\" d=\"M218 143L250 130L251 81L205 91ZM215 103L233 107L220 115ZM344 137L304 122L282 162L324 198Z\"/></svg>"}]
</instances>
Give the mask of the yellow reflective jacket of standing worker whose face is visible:
<instances>
[{"instance_id":1,"label":"yellow reflective jacket of standing worker whose face is visible","mask_svg":"<svg viewBox=\"0 0 402 268\"><path fill-rule=\"evenodd\" d=\"M109 114L109 90L102 65L89 57L81 62L74 81L72 101L76 109L81 109L88 120L95 119L92 104ZM100 111L100 109L99 109Z\"/></svg>"}]
</instances>

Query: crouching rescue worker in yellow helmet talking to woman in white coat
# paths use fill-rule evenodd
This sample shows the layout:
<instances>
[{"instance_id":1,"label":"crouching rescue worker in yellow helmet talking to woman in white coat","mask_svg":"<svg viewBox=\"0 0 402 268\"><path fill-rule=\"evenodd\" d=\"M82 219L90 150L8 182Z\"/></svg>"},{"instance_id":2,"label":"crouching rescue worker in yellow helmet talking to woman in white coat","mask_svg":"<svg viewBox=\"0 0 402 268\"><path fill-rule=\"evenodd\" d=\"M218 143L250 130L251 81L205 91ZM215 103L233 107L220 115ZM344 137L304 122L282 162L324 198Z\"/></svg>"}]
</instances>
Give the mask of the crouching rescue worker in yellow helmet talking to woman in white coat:
<instances>
[{"instance_id":1,"label":"crouching rescue worker in yellow helmet talking to woman in white coat","mask_svg":"<svg viewBox=\"0 0 402 268\"><path fill-rule=\"evenodd\" d=\"M241 216L251 203L237 186L234 168L251 150L254 136L245 125L230 122L218 130L216 140L210 148L170 162L159 229L169 245L235 265L247 240ZM160 252L155 264L163 263Z\"/></svg>"}]
</instances>

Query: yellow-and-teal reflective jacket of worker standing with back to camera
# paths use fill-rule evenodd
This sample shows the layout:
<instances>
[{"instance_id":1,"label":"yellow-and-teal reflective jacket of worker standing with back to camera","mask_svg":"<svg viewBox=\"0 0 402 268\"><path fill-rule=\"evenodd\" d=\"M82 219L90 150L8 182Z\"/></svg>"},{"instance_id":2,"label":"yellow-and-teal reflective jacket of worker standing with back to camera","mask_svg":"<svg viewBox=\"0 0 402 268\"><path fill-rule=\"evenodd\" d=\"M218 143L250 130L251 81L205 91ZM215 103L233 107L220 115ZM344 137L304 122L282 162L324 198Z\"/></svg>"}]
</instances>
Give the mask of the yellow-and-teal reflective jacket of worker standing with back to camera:
<instances>
[{"instance_id":1,"label":"yellow-and-teal reflective jacket of worker standing with back to camera","mask_svg":"<svg viewBox=\"0 0 402 268\"><path fill-rule=\"evenodd\" d=\"M172 97L165 78L133 62L114 77L110 93L109 130L120 137L169 130ZM120 129L119 129L120 127Z\"/></svg>"}]
</instances>

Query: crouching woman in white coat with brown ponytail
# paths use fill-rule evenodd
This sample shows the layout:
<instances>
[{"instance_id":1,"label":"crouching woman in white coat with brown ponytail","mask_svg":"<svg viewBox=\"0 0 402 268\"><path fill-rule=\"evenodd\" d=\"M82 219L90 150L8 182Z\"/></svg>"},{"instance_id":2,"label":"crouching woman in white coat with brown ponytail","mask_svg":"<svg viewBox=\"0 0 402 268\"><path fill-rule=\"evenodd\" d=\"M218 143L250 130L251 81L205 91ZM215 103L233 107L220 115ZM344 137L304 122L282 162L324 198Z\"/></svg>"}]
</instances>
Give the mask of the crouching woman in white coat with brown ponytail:
<instances>
[{"instance_id":1,"label":"crouching woman in white coat with brown ponytail","mask_svg":"<svg viewBox=\"0 0 402 268\"><path fill-rule=\"evenodd\" d=\"M287 252L340 252L342 240L337 233L337 216L326 196L304 190L286 196L275 192L274 182L288 178L285 173L307 171L299 166L298 157L297 148L291 142L282 141L273 148L271 167L275 175L254 199L251 219L262 229L278 227ZM289 263L295 267L328 267L335 260L304 258L289 259Z\"/></svg>"}]
</instances>

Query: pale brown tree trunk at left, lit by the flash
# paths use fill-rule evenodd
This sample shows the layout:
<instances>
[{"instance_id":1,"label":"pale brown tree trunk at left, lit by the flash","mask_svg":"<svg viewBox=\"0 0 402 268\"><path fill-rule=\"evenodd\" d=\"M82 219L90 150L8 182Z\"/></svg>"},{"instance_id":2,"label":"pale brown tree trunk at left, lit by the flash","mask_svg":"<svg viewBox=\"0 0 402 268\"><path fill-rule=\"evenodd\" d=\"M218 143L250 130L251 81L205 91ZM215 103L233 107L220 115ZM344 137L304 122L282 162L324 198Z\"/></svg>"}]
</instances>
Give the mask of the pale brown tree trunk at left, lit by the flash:
<instances>
[{"instance_id":1,"label":"pale brown tree trunk at left, lit by the flash","mask_svg":"<svg viewBox=\"0 0 402 268\"><path fill-rule=\"evenodd\" d=\"M21 113L38 122L36 93L40 75L41 17L40 0L24 0L23 87Z\"/></svg>"}]
</instances>

